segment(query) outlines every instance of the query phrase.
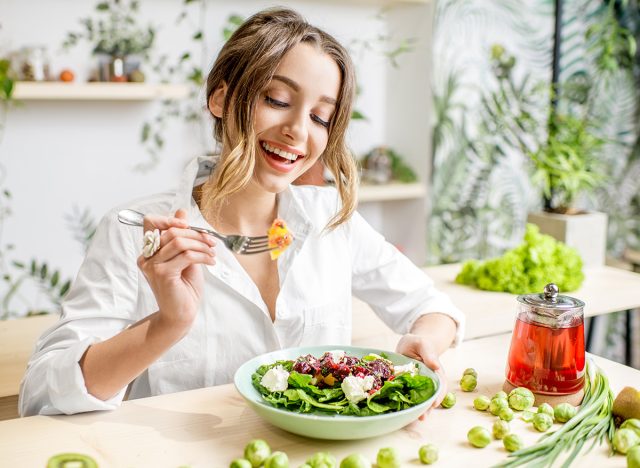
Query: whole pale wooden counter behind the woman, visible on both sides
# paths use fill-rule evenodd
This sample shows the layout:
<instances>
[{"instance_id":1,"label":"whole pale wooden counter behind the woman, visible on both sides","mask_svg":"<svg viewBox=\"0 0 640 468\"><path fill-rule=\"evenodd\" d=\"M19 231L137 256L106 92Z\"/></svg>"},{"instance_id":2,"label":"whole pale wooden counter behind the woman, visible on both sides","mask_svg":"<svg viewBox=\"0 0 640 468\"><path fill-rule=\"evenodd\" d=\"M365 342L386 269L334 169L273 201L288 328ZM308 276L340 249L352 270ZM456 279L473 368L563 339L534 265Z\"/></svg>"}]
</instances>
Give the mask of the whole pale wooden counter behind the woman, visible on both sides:
<instances>
[{"instance_id":1,"label":"whole pale wooden counter behind the woman, visible on both sides","mask_svg":"<svg viewBox=\"0 0 640 468\"><path fill-rule=\"evenodd\" d=\"M512 330L516 296L508 293L481 291L455 283L460 265L439 265L425 268L438 289L447 293L467 316L467 339L506 333ZM602 266L585 268L585 282L571 293L582 299L585 315L599 315L640 307L640 274ZM387 326L371 308L354 298L353 341L375 343L389 335ZM55 315L0 321L0 397L16 395L29 356L40 334L58 320Z\"/></svg>"}]
</instances>

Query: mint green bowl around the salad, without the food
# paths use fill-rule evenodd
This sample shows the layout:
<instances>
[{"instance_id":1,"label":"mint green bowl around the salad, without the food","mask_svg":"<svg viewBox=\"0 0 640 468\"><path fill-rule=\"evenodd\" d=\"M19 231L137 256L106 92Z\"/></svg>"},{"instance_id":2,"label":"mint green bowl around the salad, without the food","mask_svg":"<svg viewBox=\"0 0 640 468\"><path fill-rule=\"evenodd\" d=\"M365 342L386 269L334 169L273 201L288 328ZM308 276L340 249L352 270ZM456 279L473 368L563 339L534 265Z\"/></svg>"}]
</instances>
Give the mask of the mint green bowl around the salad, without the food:
<instances>
[{"instance_id":1,"label":"mint green bowl around the salad, without the food","mask_svg":"<svg viewBox=\"0 0 640 468\"><path fill-rule=\"evenodd\" d=\"M276 408L265 401L260 392L251 384L251 375L263 364L271 364L283 359L296 359L298 356L307 354L320 357L325 351L335 349L342 349L347 355L356 357L363 357L370 353L385 353L391 362L399 365L416 362L419 366L419 372L434 380L436 392L427 401L405 410L376 416L343 416L327 415L325 413L295 413ZM233 381L238 392L247 400L249 406L269 423L294 434L330 440L366 439L367 437L376 437L396 431L415 421L422 413L427 411L433 404L440 389L438 376L419 361L389 351L341 345L304 346L266 353L250 359L240 366L235 373Z\"/></svg>"}]
</instances>

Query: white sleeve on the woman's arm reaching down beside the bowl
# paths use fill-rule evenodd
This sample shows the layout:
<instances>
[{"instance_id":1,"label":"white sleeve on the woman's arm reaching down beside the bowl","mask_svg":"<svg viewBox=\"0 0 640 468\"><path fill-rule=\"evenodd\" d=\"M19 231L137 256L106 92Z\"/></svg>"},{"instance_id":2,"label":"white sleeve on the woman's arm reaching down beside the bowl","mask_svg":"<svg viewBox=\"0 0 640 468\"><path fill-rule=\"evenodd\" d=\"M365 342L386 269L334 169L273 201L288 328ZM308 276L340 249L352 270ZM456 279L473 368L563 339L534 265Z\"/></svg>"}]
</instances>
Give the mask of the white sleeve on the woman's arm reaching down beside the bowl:
<instances>
[{"instance_id":1,"label":"white sleeve on the woman's arm reaching down beside the bowl","mask_svg":"<svg viewBox=\"0 0 640 468\"><path fill-rule=\"evenodd\" d=\"M453 346L463 339L464 314L424 271L385 241L358 213L349 222L353 294L399 334L409 333L422 315L441 313L456 323Z\"/></svg>"}]
</instances>

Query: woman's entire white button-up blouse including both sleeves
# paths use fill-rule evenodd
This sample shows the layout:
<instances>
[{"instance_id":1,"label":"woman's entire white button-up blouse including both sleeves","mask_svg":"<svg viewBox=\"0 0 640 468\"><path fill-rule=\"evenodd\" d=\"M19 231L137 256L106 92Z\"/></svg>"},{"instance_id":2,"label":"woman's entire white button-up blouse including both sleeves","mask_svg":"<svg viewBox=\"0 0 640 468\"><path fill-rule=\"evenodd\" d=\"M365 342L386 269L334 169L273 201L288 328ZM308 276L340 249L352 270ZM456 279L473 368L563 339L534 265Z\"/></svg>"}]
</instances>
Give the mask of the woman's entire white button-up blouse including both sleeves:
<instances>
[{"instance_id":1,"label":"woman's entire white button-up blouse including both sleeves","mask_svg":"<svg viewBox=\"0 0 640 468\"><path fill-rule=\"evenodd\" d=\"M210 227L192 189L212 168L210 158L197 158L187 166L176 193L126 207L164 215L187 208L190 224ZM279 195L278 216L287 222L294 242L277 260L280 293L273 322L256 285L218 242L216 264L204 267L202 302L191 330L131 383L129 398L226 384L243 362L280 348L347 345L352 328L359 326L352 323L352 295L399 334L408 333L423 314L447 314L457 323L459 343L463 314L359 214L323 232L338 206L331 187L291 186ZM126 387L108 401L93 397L78 364L89 345L157 311L136 265L142 229L118 222L122 208L101 220L60 321L36 344L20 388L23 416L113 409L125 395Z\"/></svg>"}]
</instances>

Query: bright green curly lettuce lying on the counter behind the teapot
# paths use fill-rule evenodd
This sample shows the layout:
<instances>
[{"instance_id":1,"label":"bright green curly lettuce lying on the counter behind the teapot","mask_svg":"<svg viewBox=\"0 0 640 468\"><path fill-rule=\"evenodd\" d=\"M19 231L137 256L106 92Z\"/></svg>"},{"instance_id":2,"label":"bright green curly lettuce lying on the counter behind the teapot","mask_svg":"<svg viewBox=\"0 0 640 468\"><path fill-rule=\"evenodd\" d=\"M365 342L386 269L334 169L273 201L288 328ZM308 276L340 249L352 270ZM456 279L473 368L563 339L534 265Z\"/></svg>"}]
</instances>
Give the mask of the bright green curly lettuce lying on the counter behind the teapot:
<instances>
[{"instance_id":1,"label":"bright green curly lettuce lying on the counter behind the teapot","mask_svg":"<svg viewBox=\"0 0 640 468\"><path fill-rule=\"evenodd\" d=\"M584 280L578 252L540 234L537 226L527 225L524 241L501 257L463 264L456 282L487 291L527 294L542 291L556 283L561 291L574 291Z\"/></svg>"}]
</instances>

